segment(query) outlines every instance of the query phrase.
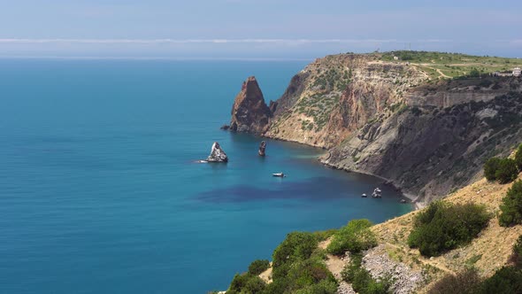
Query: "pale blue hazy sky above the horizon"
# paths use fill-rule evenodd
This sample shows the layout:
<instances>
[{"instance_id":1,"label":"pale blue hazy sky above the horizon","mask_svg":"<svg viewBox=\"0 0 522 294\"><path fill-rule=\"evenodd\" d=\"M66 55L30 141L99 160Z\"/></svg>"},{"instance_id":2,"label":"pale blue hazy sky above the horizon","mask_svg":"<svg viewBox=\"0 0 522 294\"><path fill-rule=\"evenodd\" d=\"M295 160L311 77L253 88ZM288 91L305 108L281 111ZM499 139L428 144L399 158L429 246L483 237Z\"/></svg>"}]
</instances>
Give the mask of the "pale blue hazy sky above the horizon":
<instances>
[{"instance_id":1,"label":"pale blue hazy sky above the horizon","mask_svg":"<svg viewBox=\"0 0 522 294\"><path fill-rule=\"evenodd\" d=\"M520 0L0 0L0 57L522 58Z\"/></svg>"}]
</instances>

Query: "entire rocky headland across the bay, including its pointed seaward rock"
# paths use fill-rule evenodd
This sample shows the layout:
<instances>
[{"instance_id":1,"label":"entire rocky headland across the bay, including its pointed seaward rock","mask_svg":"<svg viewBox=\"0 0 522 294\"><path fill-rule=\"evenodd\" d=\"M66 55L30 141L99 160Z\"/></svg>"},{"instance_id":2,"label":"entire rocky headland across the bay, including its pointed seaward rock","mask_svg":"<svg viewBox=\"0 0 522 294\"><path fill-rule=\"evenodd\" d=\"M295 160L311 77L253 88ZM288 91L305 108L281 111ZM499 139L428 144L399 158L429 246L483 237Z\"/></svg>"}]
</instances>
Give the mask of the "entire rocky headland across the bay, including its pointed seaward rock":
<instances>
[{"instance_id":1,"label":"entire rocky headland across the bay, including its pointed seaward rock","mask_svg":"<svg viewBox=\"0 0 522 294\"><path fill-rule=\"evenodd\" d=\"M243 86L232 127L326 148L325 164L386 178L426 201L472 182L485 159L522 142L519 78L447 79L439 68L448 74L466 68L444 67L442 59L394 61L386 54L319 58L270 107L257 82L256 98L244 103L249 91ZM469 56L462 60L478 65Z\"/></svg>"}]
</instances>

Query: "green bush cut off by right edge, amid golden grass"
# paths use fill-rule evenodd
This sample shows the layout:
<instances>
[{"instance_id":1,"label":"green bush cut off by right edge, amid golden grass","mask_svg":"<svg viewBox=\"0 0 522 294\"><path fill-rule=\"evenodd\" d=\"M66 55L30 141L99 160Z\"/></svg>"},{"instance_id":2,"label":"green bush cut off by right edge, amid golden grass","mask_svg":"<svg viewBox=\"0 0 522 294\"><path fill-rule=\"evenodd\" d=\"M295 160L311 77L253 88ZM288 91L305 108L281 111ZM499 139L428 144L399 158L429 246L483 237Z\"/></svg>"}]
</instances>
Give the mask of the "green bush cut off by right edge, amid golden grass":
<instances>
[{"instance_id":1,"label":"green bush cut off by right edge, amid golden grass","mask_svg":"<svg viewBox=\"0 0 522 294\"><path fill-rule=\"evenodd\" d=\"M499 215L498 221L501 226L509 227L522 223L522 181L513 183L502 199L500 210L502 213Z\"/></svg>"}]
</instances>

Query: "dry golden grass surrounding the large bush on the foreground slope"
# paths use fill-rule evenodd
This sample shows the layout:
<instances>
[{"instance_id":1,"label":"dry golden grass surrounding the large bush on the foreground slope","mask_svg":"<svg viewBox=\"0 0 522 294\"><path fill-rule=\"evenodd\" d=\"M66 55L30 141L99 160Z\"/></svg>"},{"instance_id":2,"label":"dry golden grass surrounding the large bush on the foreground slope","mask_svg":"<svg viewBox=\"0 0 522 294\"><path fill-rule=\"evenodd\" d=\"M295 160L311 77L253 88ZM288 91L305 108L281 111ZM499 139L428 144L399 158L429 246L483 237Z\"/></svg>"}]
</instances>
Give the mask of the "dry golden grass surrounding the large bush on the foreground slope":
<instances>
[{"instance_id":1,"label":"dry golden grass surrounding the large bush on the foreground slope","mask_svg":"<svg viewBox=\"0 0 522 294\"><path fill-rule=\"evenodd\" d=\"M522 176L518 177L518 179L521 178ZM446 273L457 273L465 267L472 266L479 270L480 275L487 277L493 275L496 269L507 263L513 244L517 241L518 236L522 235L522 226L503 228L499 226L496 218L502 198L510 186L511 184L501 185L482 179L446 197L445 201L452 204L486 205L487 211L494 217L489 221L487 228L471 244L449 251L439 257L427 259L422 257L418 250L408 247L407 239L412 228L413 218L418 212L386 221L372 227L372 230L378 236L379 243L387 245L386 251L390 258L403 261L411 268L424 268L429 272L428 281L434 282Z\"/></svg>"}]
</instances>

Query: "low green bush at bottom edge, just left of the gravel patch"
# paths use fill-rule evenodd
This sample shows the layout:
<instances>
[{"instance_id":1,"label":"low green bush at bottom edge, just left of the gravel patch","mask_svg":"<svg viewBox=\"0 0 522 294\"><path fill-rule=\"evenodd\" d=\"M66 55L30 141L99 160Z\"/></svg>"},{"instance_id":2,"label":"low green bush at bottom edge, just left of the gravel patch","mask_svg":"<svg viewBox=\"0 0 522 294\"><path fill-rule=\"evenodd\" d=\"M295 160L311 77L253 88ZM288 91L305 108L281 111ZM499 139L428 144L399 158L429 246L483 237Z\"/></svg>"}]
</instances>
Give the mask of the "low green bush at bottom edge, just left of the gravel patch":
<instances>
[{"instance_id":1,"label":"low green bush at bottom edge, just left of the gravel patch","mask_svg":"<svg viewBox=\"0 0 522 294\"><path fill-rule=\"evenodd\" d=\"M362 257L359 254L352 255L350 262L341 272L342 279L350 282L353 290L359 294L386 294L391 287L389 279L376 281L372 275L361 267Z\"/></svg>"}]
</instances>

